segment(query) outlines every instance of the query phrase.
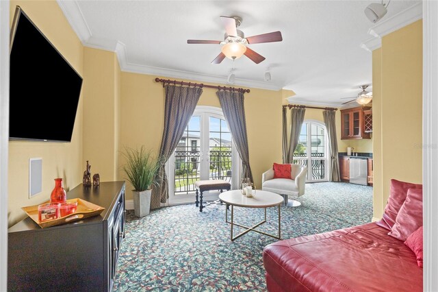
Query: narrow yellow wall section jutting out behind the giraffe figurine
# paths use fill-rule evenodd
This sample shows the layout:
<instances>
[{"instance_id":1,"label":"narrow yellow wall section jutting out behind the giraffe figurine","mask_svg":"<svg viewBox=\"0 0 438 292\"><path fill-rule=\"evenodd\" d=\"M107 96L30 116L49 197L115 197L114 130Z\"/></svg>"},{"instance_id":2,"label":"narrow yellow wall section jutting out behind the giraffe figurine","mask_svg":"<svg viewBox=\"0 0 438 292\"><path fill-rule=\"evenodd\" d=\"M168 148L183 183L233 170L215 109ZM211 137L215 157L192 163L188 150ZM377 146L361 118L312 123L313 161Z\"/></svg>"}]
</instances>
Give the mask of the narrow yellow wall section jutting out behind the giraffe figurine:
<instances>
[{"instance_id":1,"label":"narrow yellow wall section jutting out behind the giraffe figurine","mask_svg":"<svg viewBox=\"0 0 438 292\"><path fill-rule=\"evenodd\" d=\"M120 68L113 52L88 47L83 52L83 159L101 182L117 180Z\"/></svg>"}]
</instances>

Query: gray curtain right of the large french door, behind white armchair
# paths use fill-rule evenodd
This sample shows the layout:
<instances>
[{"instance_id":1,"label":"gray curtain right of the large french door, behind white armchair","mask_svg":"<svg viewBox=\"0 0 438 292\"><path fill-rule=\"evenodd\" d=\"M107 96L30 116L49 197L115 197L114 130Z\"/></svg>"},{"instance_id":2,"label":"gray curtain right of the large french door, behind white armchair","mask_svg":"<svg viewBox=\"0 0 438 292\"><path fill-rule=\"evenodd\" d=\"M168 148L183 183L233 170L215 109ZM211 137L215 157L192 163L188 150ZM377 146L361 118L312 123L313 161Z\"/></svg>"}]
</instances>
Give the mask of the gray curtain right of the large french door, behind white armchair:
<instances>
[{"instance_id":1,"label":"gray curtain right of the large french door, behind white armchair","mask_svg":"<svg viewBox=\"0 0 438 292\"><path fill-rule=\"evenodd\" d=\"M242 159L242 178L253 180L253 173L249 166L248 135L246 134L246 119L244 108L244 93L219 90L220 106L230 127L231 136Z\"/></svg>"}]
</instances>

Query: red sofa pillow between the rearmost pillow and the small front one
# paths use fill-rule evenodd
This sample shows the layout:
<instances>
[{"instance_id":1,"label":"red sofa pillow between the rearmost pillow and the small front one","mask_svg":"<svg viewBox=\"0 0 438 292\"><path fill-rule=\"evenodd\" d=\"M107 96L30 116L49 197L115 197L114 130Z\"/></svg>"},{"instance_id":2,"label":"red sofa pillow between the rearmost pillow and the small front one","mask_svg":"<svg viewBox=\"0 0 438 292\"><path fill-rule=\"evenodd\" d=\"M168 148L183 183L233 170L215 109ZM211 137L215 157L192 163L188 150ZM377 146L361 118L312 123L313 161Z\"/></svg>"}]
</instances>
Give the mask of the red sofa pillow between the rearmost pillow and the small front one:
<instances>
[{"instance_id":1,"label":"red sofa pillow between the rearmost pillow and the small front one","mask_svg":"<svg viewBox=\"0 0 438 292\"><path fill-rule=\"evenodd\" d=\"M396 223L388 234L400 241L406 241L420 226L423 226L423 190L409 188L406 200L398 211Z\"/></svg>"}]
</instances>

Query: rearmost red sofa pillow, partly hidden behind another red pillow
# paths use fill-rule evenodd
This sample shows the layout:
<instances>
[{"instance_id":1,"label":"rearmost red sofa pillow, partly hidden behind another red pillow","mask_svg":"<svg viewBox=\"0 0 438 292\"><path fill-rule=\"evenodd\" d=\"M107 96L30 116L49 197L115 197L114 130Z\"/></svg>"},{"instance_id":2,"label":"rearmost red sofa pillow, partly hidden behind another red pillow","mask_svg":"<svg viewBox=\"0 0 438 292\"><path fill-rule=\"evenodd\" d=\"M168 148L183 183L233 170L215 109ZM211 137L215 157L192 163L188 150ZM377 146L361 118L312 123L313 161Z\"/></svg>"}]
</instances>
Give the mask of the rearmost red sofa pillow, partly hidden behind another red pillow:
<instances>
[{"instance_id":1,"label":"rearmost red sofa pillow, partly hidden behind another red pillow","mask_svg":"<svg viewBox=\"0 0 438 292\"><path fill-rule=\"evenodd\" d=\"M378 226L391 230L392 226L396 223L398 211L402 207L404 199L406 199L409 188L423 188L423 185L391 180L388 202L385 212L383 212L383 218L376 222Z\"/></svg>"}]
</instances>

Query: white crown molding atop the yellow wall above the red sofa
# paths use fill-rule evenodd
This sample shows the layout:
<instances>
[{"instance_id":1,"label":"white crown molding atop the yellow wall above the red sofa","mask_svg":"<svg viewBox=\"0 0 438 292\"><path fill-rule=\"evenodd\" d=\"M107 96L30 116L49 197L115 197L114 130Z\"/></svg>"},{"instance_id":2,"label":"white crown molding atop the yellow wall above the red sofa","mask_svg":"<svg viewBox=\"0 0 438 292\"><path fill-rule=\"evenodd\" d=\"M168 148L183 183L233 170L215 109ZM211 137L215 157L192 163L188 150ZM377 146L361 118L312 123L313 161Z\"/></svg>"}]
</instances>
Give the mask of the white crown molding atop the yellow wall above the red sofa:
<instances>
[{"instance_id":1,"label":"white crown molding atop the yellow wall above the red sofa","mask_svg":"<svg viewBox=\"0 0 438 292\"><path fill-rule=\"evenodd\" d=\"M385 19L368 30L368 34L376 38L382 38L391 32L395 32L406 25L423 18L423 3L419 2L411 7L399 12L389 19Z\"/></svg>"}]
</instances>

